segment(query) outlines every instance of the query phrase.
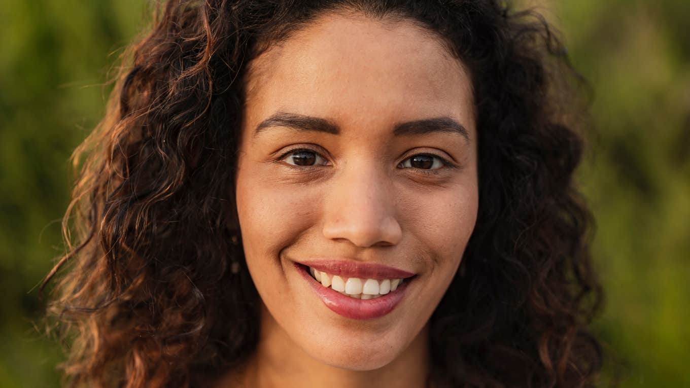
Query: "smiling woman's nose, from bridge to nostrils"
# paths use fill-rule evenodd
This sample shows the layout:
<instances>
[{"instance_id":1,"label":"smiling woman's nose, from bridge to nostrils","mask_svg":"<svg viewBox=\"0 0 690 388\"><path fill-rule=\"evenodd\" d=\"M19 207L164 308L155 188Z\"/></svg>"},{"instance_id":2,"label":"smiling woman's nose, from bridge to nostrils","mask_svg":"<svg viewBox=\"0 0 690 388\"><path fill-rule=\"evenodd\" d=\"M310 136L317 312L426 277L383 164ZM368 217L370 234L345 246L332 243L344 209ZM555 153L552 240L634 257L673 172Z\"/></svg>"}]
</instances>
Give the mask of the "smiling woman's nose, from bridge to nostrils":
<instances>
[{"instance_id":1,"label":"smiling woman's nose, from bridge to nostrils","mask_svg":"<svg viewBox=\"0 0 690 388\"><path fill-rule=\"evenodd\" d=\"M402 239L393 184L383 171L353 166L335 178L324 202L324 236L356 246L395 245Z\"/></svg>"}]
</instances>

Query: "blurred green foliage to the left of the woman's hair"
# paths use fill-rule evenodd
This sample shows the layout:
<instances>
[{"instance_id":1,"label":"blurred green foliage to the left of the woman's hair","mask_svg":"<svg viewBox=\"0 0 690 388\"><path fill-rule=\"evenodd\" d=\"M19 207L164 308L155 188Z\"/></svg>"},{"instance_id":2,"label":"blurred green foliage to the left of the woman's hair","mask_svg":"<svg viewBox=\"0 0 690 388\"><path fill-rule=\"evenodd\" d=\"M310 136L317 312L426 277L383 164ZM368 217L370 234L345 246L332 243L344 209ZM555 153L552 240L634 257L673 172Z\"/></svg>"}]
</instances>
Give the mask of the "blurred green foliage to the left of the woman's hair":
<instances>
[{"instance_id":1,"label":"blurred green foliage to the left of the woman's hair","mask_svg":"<svg viewBox=\"0 0 690 388\"><path fill-rule=\"evenodd\" d=\"M54 387L34 288L64 251L70 153L103 113L141 0L0 1L0 387Z\"/></svg>"}]
</instances>

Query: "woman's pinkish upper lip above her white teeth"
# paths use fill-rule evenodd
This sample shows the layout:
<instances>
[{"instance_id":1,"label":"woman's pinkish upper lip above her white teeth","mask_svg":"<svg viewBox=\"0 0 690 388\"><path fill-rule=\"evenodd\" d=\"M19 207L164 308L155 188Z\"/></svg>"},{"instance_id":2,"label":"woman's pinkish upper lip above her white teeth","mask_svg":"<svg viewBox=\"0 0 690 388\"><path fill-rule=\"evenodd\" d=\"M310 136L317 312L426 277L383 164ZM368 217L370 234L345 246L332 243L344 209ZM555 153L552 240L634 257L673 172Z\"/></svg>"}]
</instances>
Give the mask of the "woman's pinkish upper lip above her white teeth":
<instances>
[{"instance_id":1,"label":"woman's pinkish upper lip above her white teeth","mask_svg":"<svg viewBox=\"0 0 690 388\"><path fill-rule=\"evenodd\" d=\"M311 266L314 269L330 275L360 279L401 279L410 278L415 273L397 269L385 264L359 262L343 258L319 258L309 260L294 260L299 264Z\"/></svg>"}]
</instances>

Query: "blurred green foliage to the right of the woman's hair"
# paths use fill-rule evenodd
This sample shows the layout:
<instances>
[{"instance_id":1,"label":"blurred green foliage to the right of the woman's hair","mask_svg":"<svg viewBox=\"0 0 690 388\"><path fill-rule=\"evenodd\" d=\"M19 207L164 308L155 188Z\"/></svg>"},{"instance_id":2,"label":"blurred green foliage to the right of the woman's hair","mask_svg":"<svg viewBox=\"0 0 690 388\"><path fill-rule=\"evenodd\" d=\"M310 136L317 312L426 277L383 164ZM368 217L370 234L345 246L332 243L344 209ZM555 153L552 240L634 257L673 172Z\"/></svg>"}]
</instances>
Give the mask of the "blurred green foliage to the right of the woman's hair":
<instances>
[{"instance_id":1,"label":"blurred green foliage to the right of the woman's hair","mask_svg":"<svg viewBox=\"0 0 690 388\"><path fill-rule=\"evenodd\" d=\"M580 182L607 291L596 328L622 387L690 387L690 3L564 1L555 14L595 88Z\"/></svg>"}]
</instances>

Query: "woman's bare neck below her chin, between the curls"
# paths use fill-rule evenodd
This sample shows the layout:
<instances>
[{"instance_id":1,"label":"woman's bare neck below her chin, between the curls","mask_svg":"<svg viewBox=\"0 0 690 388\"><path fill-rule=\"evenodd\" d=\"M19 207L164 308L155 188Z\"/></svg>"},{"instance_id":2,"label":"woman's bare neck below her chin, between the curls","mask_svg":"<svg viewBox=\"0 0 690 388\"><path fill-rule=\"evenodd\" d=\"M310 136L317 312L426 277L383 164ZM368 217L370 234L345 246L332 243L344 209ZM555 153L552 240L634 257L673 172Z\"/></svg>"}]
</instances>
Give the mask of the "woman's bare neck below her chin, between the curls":
<instances>
[{"instance_id":1,"label":"woman's bare neck below her chin, between the curls","mask_svg":"<svg viewBox=\"0 0 690 388\"><path fill-rule=\"evenodd\" d=\"M379 369L353 371L324 364L305 353L262 304L261 335L253 356L219 387L426 387L430 371L428 324L392 362Z\"/></svg>"}]
</instances>

